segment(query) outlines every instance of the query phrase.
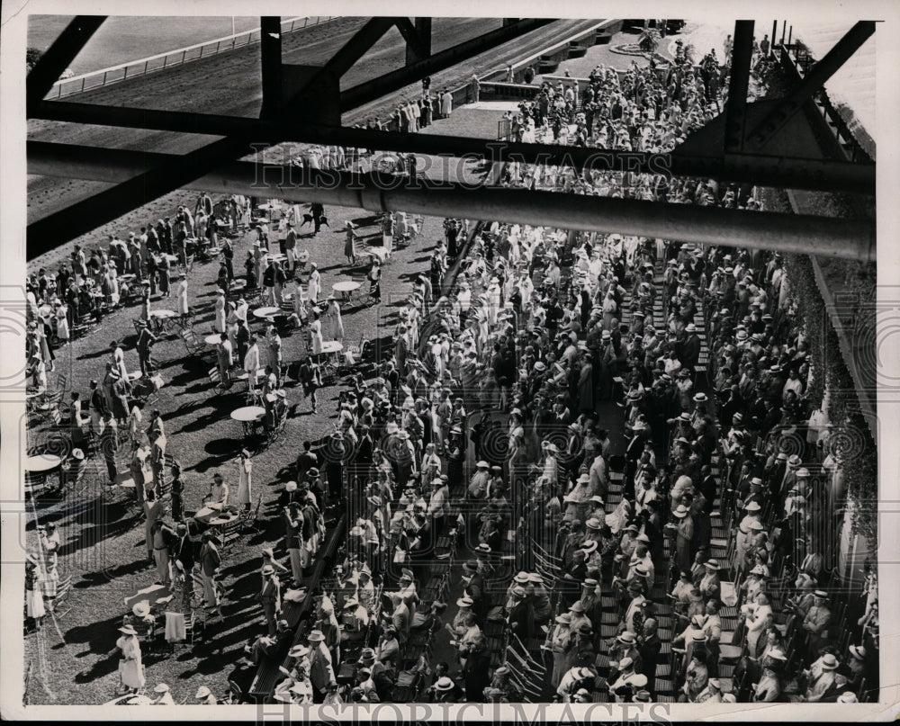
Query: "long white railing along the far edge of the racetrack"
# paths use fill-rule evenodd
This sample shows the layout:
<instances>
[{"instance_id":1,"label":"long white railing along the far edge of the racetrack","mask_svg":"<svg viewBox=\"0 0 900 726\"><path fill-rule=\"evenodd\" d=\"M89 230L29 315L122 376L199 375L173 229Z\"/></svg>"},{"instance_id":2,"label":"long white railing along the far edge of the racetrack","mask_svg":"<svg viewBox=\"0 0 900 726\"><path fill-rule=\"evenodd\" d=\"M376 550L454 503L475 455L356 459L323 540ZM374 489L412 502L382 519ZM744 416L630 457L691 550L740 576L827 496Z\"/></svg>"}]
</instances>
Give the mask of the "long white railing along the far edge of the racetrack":
<instances>
[{"instance_id":1,"label":"long white railing along the far edge of the racetrack","mask_svg":"<svg viewBox=\"0 0 900 726\"><path fill-rule=\"evenodd\" d=\"M319 25L322 22L335 20L334 17L298 17L288 18L281 23L282 32L289 33L302 31L311 25ZM101 68L81 76L72 76L71 78L63 78L58 80L50 87L49 94L46 98L60 98L61 96L80 94L84 91L91 91L94 88L102 88L104 85L110 85L124 81L126 78L134 76L146 76L163 68L173 66L181 66L184 63L190 63L200 58L208 58L225 52L242 48L247 45L259 42L260 29L254 28L252 31L238 32L234 35L227 35L224 38L216 40L207 40L203 43L189 46L187 48L179 48L177 50L169 50L167 53L159 53L149 58L140 58L132 60L129 63L122 63L118 66Z\"/></svg>"}]
</instances>

